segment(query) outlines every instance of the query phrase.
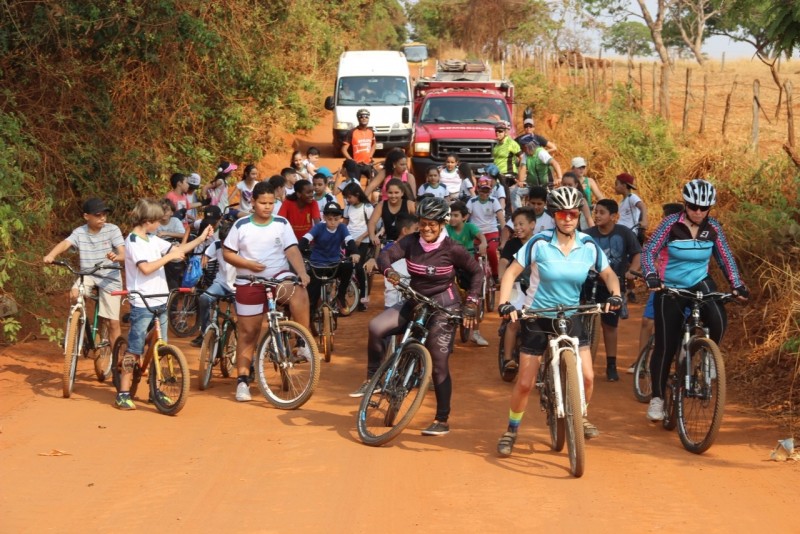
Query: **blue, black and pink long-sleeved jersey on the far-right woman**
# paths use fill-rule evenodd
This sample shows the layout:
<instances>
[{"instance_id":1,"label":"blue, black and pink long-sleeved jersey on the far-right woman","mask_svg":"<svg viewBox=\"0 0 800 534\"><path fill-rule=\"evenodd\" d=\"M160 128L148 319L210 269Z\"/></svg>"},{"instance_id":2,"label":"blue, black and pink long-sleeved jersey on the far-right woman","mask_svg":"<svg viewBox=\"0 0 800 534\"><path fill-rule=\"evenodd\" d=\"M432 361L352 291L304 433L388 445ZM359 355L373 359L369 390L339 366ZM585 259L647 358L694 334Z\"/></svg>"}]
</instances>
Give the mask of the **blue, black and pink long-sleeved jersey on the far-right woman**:
<instances>
[{"instance_id":1,"label":"blue, black and pink long-sleeved jersey on the far-right woman","mask_svg":"<svg viewBox=\"0 0 800 534\"><path fill-rule=\"evenodd\" d=\"M685 213L665 217L642 251L642 271L645 274L657 272L655 259L663 249L667 250L667 254L661 256L664 262L661 268L667 287L686 289L699 284L708 277L712 255L725 272L731 287L744 285L722 227L712 217L706 217L700 223L697 237L692 237Z\"/></svg>"}]
</instances>

